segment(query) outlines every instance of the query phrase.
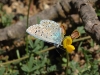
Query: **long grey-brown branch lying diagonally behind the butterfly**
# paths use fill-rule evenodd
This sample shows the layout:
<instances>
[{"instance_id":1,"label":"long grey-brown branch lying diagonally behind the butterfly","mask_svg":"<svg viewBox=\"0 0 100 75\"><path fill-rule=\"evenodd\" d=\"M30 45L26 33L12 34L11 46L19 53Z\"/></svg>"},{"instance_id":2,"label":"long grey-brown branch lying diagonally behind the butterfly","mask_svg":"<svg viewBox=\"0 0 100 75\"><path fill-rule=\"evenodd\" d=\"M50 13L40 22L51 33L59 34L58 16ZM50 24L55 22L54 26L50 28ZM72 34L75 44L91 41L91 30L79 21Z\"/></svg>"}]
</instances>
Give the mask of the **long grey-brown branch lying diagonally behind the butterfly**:
<instances>
[{"instance_id":1,"label":"long grey-brown branch lying diagonally behind the butterfly","mask_svg":"<svg viewBox=\"0 0 100 75\"><path fill-rule=\"evenodd\" d=\"M77 2L77 0L75 0L75 1ZM75 1L73 1L73 3L75 3ZM50 9L44 10L44 11L30 17L29 25L36 24L37 17L39 17L41 20L42 19L55 19L58 17L66 18L67 17L66 13L67 14L70 13L70 10L71 10L70 2L71 2L71 0L62 0L61 2L52 6ZM79 0L78 2L81 2L81 0ZM81 7L81 9L82 9L82 7ZM80 9L80 11L81 11L81 9ZM81 13L83 13L83 12L84 11L82 11ZM94 12L94 14L95 14L95 12ZM94 24L95 28L96 28L96 24L97 24L97 22L95 21L95 24ZM86 28L86 26L85 26L85 28ZM25 33L26 33L25 30L26 30L26 20L20 21L16 24L6 27L4 29L0 29L0 41L24 37ZM94 31L94 29L93 29L93 31ZM98 35L98 34L96 34L96 35Z\"/></svg>"}]
</instances>

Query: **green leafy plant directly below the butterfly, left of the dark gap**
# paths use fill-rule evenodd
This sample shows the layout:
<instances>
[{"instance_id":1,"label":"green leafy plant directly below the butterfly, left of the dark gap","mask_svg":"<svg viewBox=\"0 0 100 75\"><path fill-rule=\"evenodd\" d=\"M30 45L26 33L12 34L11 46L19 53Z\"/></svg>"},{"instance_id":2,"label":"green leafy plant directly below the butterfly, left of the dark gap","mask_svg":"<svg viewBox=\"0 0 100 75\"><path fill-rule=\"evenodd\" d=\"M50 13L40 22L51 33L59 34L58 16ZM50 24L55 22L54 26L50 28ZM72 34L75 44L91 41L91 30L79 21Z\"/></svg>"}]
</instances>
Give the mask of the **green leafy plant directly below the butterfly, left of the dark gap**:
<instances>
[{"instance_id":1,"label":"green leafy plant directly below the butterfly, left of the dark gap","mask_svg":"<svg viewBox=\"0 0 100 75\"><path fill-rule=\"evenodd\" d=\"M33 43L32 40L29 40L29 53L30 57L26 64L22 64L21 69L25 72L25 75L40 75L47 74L51 71L56 70L55 65L50 64L50 60L48 58L48 52L43 54L37 54L38 51L48 48L44 46L44 42L36 39Z\"/></svg>"}]
</instances>

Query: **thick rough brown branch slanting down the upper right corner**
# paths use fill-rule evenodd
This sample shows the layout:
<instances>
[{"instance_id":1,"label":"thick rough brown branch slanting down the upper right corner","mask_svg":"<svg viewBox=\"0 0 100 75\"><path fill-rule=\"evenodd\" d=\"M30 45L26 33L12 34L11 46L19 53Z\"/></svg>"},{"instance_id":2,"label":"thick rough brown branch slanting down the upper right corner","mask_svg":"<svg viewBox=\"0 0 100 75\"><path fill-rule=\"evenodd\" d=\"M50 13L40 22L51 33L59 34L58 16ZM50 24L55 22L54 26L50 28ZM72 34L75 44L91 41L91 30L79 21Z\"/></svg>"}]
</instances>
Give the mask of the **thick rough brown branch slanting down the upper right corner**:
<instances>
[{"instance_id":1,"label":"thick rough brown branch slanting down the upper right corner","mask_svg":"<svg viewBox=\"0 0 100 75\"><path fill-rule=\"evenodd\" d=\"M72 0L72 3L78 8L80 16L84 22L85 30L97 42L100 41L100 22L92 6L85 0Z\"/></svg>"}]
</instances>

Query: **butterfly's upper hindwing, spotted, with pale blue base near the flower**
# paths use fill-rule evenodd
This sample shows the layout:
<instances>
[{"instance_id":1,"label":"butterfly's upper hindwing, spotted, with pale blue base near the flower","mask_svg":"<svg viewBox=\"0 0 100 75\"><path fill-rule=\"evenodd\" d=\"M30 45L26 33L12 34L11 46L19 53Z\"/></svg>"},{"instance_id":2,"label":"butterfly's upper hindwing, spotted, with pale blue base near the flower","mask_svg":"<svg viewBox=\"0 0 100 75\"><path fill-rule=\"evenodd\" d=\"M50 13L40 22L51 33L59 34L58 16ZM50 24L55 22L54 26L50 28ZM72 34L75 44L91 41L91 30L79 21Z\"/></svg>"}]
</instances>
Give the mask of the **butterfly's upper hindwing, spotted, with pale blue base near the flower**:
<instances>
[{"instance_id":1,"label":"butterfly's upper hindwing, spotted, with pale blue base near the flower","mask_svg":"<svg viewBox=\"0 0 100 75\"><path fill-rule=\"evenodd\" d=\"M53 40L52 43L60 45L62 42L62 39L63 39L62 28L60 27L60 25L51 20L42 20L40 22L40 24L45 26L45 28L51 34L51 35L49 34L47 36L51 37L51 39Z\"/></svg>"}]
</instances>

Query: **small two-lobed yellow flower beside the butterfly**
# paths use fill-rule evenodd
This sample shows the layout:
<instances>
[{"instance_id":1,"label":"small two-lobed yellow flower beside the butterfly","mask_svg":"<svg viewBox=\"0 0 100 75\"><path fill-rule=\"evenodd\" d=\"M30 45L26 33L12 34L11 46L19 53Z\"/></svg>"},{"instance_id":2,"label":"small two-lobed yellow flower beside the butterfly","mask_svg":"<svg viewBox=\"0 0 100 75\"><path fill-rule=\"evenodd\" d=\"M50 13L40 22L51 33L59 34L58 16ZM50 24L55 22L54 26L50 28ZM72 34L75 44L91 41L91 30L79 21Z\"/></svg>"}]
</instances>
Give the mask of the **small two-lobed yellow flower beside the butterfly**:
<instances>
[{"instance_id":1,"label":"small two-lobed yellow flower beside the butterfly","mask_svg":"<svg viewBox=\"0 0 100 75\"><path fill-rule=\"evenodd\" d=\"M66 49L68 53L72 53L73 50L75 50L75 47L72 44L72 38L70 36L67 36L63 40L63 48Z\"/></svg>"}]
</instances>

